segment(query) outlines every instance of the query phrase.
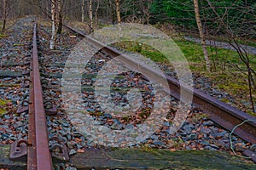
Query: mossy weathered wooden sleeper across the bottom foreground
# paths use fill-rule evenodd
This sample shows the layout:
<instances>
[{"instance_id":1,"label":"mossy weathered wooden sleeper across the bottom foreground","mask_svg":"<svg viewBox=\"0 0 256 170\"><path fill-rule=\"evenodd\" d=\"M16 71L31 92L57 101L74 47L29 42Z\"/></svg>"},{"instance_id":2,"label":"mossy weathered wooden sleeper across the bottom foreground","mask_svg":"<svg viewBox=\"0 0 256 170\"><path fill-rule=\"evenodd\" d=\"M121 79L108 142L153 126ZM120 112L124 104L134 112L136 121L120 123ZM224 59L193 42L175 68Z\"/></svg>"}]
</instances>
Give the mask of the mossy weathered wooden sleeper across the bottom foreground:
<instances>
[{"instance_id":1,"label":"mossy weathered wooden sleeper across the bottom foreground","mask_svg":"<svg viewBox=\"0 0 256 170\"><path fill-rule=\"evenodd\" d=\"M0 145L0 168L26 169L26 162L9 161L9 145ZM54 161L54 164L57 163ZM256 169L225 152L210 150L90 149L71 156L69 163L79 170L95 169Z\"/></svg>"}]
</instances>

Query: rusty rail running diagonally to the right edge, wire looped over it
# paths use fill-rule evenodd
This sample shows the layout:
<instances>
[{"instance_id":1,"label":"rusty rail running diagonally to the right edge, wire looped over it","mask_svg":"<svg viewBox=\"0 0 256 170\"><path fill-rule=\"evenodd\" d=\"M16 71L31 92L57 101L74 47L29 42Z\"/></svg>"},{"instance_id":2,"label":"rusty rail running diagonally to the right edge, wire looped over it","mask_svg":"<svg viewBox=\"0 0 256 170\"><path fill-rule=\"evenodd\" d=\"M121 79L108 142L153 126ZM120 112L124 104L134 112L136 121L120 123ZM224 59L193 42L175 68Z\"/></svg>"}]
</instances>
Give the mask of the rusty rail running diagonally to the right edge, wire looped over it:
<instances>
[{"instance_id":1,"label":"rusty rail running diagonally to the right edge, wire looped over it","mask_svg":"<svg viewBox=\"0 0 256 170\"><path fill-rule=\"evenodd\" d=\"M162 77L157 71L149 68L147 65L140 65L136 60L131 59L124 54L121 54L116 49L107 47L102 42L98 42L91 37L87 37L84 33L80 31L76 31L71 26L67 26L67 29L76 32L82 37L86 37L89 42L96 45L98 48L102 48L102 51L110 54L113 58L122 55L121 59L117 59L125 64L128 68L137 68L141 71L145 76L154 78L157 82L164 82L167 80L168 87L164 87L165 91L170 93L176 99L180 99L180 91L183 89L183 95L193 95L192 103L199 107L202 111L207 113L210 116L210 119L213 122L216 122L221 127L232 131L235 127L236 130L233 132L241 139L246 140L252 144L256 144L256 118L247 113L242 112L231 105L227 105L218 99L214 99L207 94L204 94L200 90L195 88L191 88L187 85L184 85L178 82L176 79L165 76ZM165 84L165 83L161 83ZM186 102L186 99L183 98L183 102ZM241 126L238 126L241 124ZM256 158L256 154L252 153L252 151L246 150L244 152L245 155L250 156L254 161Z\"/></svg>"}]
</instances>

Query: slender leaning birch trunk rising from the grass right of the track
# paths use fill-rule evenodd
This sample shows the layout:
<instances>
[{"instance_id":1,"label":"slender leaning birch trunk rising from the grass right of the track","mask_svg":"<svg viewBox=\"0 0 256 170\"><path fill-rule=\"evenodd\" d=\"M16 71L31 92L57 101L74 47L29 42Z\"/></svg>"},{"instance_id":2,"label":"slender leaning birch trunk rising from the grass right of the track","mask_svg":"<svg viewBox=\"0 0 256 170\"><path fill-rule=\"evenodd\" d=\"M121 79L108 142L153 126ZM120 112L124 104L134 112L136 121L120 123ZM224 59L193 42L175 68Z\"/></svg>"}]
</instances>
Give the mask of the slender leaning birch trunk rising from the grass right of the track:
<instances>
[{"instance_id":1,"label":"slender leaning birch trunk rising from the grass right of the track","mask_svg":"<svg viewBox=\"0 0 256 170\"><path fill-rule=\"evenodd\" d=\"M203 53L204 53L205 60L206 60L206 64L207 64L207 71L211 71L211 62L210 62L210 59L209 59L209 54L207 52L206 38L205 38L203 29L202 29L198 0L193 0L193 1L194 1L194 6L195 6L195 20L196 20L199 35L200 35L200 38L201 38L201 46L202 46Z\"/></svg>"}]
</instances>

